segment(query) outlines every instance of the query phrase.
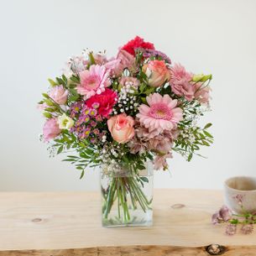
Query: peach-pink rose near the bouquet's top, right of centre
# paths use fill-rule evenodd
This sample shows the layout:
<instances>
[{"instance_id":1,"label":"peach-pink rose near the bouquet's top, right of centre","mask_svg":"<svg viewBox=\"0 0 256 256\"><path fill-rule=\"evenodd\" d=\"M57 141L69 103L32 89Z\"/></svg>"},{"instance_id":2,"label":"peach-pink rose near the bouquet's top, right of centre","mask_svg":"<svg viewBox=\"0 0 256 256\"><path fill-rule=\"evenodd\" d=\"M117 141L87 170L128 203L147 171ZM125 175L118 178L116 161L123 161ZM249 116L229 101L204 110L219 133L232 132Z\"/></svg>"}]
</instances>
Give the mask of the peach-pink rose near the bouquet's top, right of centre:
<instances>
[{"instance_id":1,"label":"peach-pink rose near the bouquet's top, right of centre","mask_svg":"<svg viewBox=\"0 0 256 256\"><path fill-rule=\"evenodd\" d=\"M149 78L149 86L163 86L165 81L170 80L170 70L165 65L164 60L150 60L142 68Z\"/></svg>"}]
</instances>

